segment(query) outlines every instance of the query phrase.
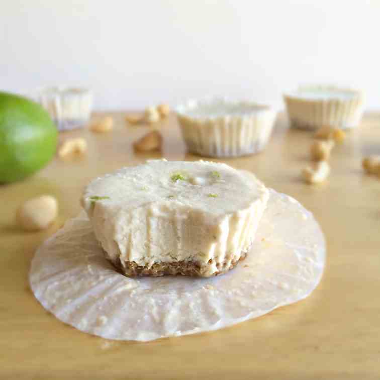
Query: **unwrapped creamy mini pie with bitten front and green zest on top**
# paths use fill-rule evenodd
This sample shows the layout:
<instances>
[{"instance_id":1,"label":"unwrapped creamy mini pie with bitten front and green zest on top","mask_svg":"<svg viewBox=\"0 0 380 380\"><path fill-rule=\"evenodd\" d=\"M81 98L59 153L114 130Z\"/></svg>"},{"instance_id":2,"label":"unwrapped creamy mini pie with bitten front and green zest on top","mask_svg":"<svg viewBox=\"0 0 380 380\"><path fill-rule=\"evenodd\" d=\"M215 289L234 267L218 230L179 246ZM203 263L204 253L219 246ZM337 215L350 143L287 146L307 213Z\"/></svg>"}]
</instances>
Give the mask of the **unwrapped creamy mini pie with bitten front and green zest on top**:
<instances>
[{"instance_id":1,"label":"unwrapped creamy mini pie with bitten front and green zest on top","mask_svg":"<svg viewBox=\"0 0 380 380\"><path fill-rule=\"evenodd\" d=\"M210 277L245 258L268 197L226 164L153 160L93 180L82 205L126 275Z\"/></svg>"}]
</instances>

